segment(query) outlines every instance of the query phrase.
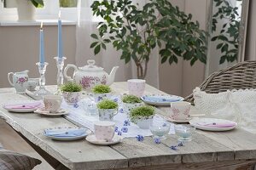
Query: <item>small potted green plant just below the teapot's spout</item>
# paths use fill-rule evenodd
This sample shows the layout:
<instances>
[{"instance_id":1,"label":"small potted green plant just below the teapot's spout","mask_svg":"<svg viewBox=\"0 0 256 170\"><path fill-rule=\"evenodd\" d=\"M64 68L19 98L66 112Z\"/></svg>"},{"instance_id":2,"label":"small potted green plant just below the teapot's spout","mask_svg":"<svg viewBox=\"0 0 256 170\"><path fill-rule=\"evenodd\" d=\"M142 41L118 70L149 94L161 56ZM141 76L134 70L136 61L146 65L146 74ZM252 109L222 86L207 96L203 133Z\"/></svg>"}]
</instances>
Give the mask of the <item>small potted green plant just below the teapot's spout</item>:
<instances>
[{"instance_id":1,"label":"small potted green plant just below the teapot's spout","mask_svg":"<svg viewBox=\"0 0 256 170\"><path fill-rule=\"evenodd\" d=\"M92 88L95 101L101 101L102 99L108 99L111 96L111 88L107 85L99 84Z\"/></svg>"}]
</instances>

